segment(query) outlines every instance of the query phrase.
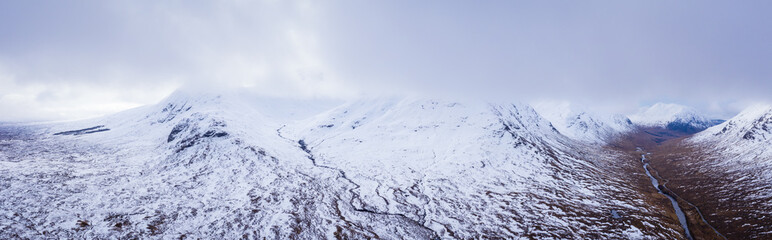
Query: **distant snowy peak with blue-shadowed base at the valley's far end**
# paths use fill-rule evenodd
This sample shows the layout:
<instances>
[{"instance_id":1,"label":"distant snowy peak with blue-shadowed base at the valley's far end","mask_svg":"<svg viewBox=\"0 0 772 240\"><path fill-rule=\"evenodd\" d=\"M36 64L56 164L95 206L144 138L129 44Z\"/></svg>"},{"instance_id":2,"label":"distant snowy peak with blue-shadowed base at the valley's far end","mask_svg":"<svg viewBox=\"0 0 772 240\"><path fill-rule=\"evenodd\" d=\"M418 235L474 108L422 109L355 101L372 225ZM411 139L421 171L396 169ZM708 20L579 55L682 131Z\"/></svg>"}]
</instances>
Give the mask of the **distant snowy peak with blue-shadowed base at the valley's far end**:
<instances>
[{"instance_id":1,"label":"distant snowy peak with blue-shadowed base at the valley's far end","mask_svg":"<svg viewBox=\"0 0 772 240\"><path fill-rule=\"evenodd\" d=\"M662 127L684 133L696 133L721 122L711 120L694 108L672 103L657 103L628 117L639 126Z\"/></svg>"}]
</instances>

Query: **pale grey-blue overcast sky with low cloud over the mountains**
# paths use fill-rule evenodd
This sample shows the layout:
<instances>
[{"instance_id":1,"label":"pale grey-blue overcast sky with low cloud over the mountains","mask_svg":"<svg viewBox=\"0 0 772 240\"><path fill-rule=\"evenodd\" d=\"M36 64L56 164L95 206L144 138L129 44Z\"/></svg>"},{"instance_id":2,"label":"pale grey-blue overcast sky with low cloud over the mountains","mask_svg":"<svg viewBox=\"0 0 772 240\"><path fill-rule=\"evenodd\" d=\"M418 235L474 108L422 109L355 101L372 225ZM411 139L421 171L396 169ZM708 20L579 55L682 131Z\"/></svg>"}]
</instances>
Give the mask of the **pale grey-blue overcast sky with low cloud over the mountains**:
<instances>
[{"instance_id":1,"label":"pale grey-blue overcast sky with low cloud over the mountains","mask_svg":"<svg viewBox=\"0 0 772 240\"><path fill-rule=\"evenodd\" d=\"M772 1L2 1L0 121L97 116L181 86L655 102L772 98Z\"/></svg>"}]
</instances>

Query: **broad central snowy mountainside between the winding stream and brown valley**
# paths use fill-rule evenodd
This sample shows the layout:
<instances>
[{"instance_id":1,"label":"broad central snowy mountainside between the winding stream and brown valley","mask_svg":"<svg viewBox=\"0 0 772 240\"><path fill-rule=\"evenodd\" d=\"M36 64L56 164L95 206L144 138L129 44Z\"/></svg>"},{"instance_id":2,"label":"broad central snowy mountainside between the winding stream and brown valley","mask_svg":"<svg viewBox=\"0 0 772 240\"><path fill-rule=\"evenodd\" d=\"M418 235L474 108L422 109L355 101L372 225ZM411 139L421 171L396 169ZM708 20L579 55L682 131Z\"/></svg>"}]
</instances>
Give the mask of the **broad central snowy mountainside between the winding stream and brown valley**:
<instances>
[{"instance_id":1,"label":"broad central snowy mountainside between the winding stream and brown valley","mask_svg":"<svg viewBox=\"0 0 772 240\"><path fill-rule=\"evenodd\" d=\"M371 100L282 132L357 182L356 204L421 219L443 238L635 239L628 234L641 231L609 229L611 209L645 209L610 196L625 188L601 170L613 168L613 157L574 145L523 104Z\"/></svg>"}]
</instances>

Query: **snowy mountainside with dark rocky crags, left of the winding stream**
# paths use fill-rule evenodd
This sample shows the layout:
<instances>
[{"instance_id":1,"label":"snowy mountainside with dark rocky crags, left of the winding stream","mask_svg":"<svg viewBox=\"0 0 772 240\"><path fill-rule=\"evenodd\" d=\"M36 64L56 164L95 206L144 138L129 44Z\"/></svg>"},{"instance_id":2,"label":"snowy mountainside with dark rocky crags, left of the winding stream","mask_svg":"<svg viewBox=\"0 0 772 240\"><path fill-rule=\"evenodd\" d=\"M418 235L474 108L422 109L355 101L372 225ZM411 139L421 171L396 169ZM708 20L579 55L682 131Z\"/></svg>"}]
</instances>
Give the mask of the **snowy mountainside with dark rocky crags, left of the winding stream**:
<instances>
[{"instance_id":1,"label":"snowy mountainside with dark rocky crags, left of the winding stream","mask_svg":"<svg viewBox=\"0 0 772 240\"><path fill-rule=\"evenodd\" d=\"M146 109L37 127L35 141L3 149L12 159L0 165L2 238L432 236L403 217L351 207L352 185L313 166L244 100L177 93ZM53 135L96 124L110 130Z\"/></svg>"}]
</instances>

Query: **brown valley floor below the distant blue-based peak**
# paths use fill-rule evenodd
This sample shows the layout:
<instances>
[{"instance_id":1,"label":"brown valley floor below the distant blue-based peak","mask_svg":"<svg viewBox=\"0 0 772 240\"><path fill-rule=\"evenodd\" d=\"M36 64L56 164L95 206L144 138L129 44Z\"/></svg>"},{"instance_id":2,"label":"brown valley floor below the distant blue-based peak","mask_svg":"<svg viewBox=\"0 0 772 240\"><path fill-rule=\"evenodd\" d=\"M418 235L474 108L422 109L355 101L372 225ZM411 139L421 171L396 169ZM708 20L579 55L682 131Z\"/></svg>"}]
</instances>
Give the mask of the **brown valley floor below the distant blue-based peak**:
<instances>
[{"instance_id":1,"label":"brown valley floor below the distant blue-based peak","mask_svg":"<svg viewBox=\"0 0 772 240\"><path fill-rule=\"evenodd\" d=\"M727 170L717 166L723 152L689 142L692 134L665 128L641 128L614 144L619 150L640 146L638 156L657 190L683 211L669 213L679 219L694 239L764 239L770 236L770 169L765 158ZM725 154L725 153L724 153ZM711 156L713 155L713 156ZM755 159L755 160L756 160ZM746 164L748 164L746 162ZM739 168L739 167L738 167ZM651 171L651 173L649 173ZM727 187L732 186L732 187ZM662 201L661 201L662 202ZM663 204L664 202L660 203Z\"/></svg>"}]
</instances>

